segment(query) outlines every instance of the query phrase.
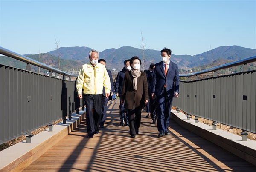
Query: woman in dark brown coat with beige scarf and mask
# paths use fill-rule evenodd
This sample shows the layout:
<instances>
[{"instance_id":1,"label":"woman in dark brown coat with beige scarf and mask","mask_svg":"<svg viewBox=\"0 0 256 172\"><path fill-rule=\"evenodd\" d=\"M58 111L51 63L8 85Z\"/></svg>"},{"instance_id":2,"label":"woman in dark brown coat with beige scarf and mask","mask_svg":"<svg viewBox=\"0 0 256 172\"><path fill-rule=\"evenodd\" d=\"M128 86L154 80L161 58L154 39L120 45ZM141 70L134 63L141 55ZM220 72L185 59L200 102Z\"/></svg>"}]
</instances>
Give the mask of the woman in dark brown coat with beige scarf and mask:
<instances>
[{"instance_id":1,"label":"woman in dark brown coat with beige scarf and mask","mask_svg":"<svg viewBox=\"0 0 256 172\"><path fill-rule=\"evenodd\" d=\"M139 134L141 109L148 103L148 82L145 72L140 71L141 60L134 56L130 60L131 71L125 72L121 103L128 110L130 135Z\"/></svg>"}]
</instances>

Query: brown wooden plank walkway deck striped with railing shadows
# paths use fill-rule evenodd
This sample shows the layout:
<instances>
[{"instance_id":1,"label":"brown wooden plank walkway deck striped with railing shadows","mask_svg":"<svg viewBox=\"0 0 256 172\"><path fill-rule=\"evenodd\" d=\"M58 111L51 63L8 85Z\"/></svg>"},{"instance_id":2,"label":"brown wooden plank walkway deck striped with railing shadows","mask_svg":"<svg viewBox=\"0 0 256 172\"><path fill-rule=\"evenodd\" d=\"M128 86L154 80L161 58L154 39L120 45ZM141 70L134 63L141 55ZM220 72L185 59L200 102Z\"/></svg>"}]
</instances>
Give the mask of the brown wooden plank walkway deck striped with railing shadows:
<instances>
[{"instance_id":1,"label":"brown wooden plank walkway deck striped with railing shadows","mask_svg":"<svg viewBox=\"0 0 256 172\"><path fill-rule=\"evenodd\" d=\"M142 114L140 134L119 126L119 100L108 103L106 128L87 138L85 120L24 172L256 172L256 166L170 121L169 136Z\"/></svg>"}]
</instances>

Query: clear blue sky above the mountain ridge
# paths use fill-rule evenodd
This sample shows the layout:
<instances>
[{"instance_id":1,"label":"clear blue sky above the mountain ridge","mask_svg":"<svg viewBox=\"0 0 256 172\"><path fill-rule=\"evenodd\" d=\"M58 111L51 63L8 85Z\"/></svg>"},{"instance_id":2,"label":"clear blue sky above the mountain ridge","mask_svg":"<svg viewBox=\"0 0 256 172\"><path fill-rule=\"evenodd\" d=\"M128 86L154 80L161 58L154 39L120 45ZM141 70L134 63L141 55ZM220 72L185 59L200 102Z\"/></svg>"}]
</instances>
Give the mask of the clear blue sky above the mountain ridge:
<instances>
[{"instance_id":1,"label":"clear blue sky above the mountain ridge","mask_svg":"<svg viewBox=\"0 0 256 172\"><path fill-rule=\"evenodd\" d=\"M0 0L0 46L18 54L59 47L132 46L195 55L256 49L256 0Z\"/></svg>"}]
</instances>

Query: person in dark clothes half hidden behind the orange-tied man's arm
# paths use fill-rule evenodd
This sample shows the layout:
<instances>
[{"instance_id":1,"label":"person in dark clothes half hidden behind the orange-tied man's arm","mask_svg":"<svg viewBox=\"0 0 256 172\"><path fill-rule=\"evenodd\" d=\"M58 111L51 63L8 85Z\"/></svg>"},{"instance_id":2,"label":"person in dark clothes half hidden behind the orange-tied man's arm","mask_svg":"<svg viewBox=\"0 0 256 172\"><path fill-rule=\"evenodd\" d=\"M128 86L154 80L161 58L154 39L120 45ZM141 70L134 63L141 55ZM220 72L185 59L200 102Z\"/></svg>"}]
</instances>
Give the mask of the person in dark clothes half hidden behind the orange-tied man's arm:
<instances>
[{"instance_id":1,"label":"person in dark clothes half hidden behind the orange-tied man's arm","mask_svg":"<svg viewBox=\"0 0 256 172\"><path fill-rule=\"evenodd\" d=\"M147 80L148 80L148 95L149 95L149 109L151 112L151 119L153 120L152 124L156 124L157 119L157 100L152 98L151 96L151 85L152 85L152 77L153 77L153 70L155 68L155 64L151 63L149 66L149 70L146 71Z\"/></svg>"}]
</instances>

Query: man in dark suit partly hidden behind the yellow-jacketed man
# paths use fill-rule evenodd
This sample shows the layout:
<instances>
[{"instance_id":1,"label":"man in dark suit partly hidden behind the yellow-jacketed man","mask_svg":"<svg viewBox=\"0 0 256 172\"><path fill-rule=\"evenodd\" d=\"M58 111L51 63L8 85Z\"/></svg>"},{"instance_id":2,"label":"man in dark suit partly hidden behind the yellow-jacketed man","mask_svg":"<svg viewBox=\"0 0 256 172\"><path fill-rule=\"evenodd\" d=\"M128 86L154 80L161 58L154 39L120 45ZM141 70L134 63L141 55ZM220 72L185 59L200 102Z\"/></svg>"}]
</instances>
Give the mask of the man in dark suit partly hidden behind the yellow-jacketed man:
<instances>
[{"instance_id":1,"label":"man in dark suit partly hidden behind the yellow-jacketed man","mask_svg":"<svg viewBox=\"0 0 256 172\"><path fill-rule=\"evenodd\" d=\"M106 60L104 59L99 59L98 63L101 63L102 65L104 65L106 67ZM110 78L110 85L111 85L111 90L110 90L110 96L108 97L108 99L106 98L106 94L105 94L105 87L103 86L103 100L102 100L102 113L101 113L101 118L100 118L100 123L99 123L99 127L104 129L104 123L106 120L106 116L107 116L107 105L108 105L108 100L110 99L110 97L112 97L114 95L114 83L113 83L113 78L112 78L112 73L110 70L107 69L108 72L108 76Z\"/></svg>"}]
</instances>

